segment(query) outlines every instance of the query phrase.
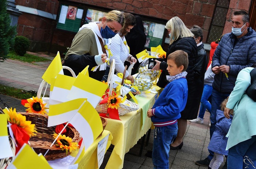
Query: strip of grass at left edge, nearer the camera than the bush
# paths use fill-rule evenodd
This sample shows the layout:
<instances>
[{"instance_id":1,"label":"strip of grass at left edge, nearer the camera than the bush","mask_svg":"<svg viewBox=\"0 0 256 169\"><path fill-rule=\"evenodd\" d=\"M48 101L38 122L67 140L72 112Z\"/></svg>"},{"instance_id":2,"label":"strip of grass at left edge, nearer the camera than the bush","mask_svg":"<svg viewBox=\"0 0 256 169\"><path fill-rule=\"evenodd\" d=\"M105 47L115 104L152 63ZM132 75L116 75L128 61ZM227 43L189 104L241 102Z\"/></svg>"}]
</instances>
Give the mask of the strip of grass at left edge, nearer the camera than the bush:
<instances>
[{"instance_id":1,"label":"strip of grass at left edge, nearer the camera than the bush","mask_svg":"<svg viewBox=\"0 0 256 169\"><path fill-rule=\"evenodd\" d=\"M0 84L0 94L12 96L18 99L28 99L28 98L31 98L32 96L35 97L37 93L31 90L25 91L20 88L15 88L15 87L10 87L10 86ZM49 96L45 95L45 97L49 97Z\"/></svg>"}]
</instances>

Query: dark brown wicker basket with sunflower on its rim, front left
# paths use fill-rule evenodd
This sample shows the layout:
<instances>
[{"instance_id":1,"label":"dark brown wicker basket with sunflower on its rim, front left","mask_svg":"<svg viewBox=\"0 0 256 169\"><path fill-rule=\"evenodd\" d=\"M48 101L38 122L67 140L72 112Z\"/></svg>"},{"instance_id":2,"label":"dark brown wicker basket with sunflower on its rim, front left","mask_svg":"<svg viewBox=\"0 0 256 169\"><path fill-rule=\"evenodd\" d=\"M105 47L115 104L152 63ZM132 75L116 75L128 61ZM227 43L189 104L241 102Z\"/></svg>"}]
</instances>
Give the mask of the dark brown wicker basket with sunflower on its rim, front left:
<instances>
[{"instance_id":1,"label":"dark brown wicker basket with sunflower on its rim, front left","mask_svg":"<svg viewBox=\"0 0 256 169\"><path fill-rule=\"evenodd\" d=\"M70 154L66 155L66 151L60 150L60 147L57 147L55 144L51 146L54 141L53 134L55 133L56 126L47 127L48 124L48 115L42 115L38 113L20 113L26 116L26 120L31 121L32 124L35 124L37 129L36 136L33 136L29 139L30 147L34 149L34 151L43 155L46 153L48 149L49 152L45 156L47 160L55 160L58 158L66 157ZM79 132L71 126L66 127L67 132L64 133L66 136L72 138L73 142L79 142L81 140Z\"/></svg>"}]
</instances>

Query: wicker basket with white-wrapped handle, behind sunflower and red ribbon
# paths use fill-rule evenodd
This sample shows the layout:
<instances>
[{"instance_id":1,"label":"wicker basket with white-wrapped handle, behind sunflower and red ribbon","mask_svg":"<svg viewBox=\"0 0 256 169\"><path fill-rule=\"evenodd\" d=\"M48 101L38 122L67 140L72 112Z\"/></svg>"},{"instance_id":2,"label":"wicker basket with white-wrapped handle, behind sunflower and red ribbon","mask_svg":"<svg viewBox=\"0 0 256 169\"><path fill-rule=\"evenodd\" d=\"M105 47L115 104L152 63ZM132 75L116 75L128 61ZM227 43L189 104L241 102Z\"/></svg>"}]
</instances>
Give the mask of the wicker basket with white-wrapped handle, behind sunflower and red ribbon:
<instances>
[{"instance_id":1,"label":"wicker basket with white-wrapped handle, behind sunflower and red ribbon","mask_svg":"<svg viewBox=\"0 0 256 169\"><path fill-rule=\"evenodd\" d=\"M109 70L109 74L108 74L108 79L107 79L107 82L109 84L109 93L108 95L109 96L112 96L112 90L113 90L113 77L114 77L114 70L115 70L115 60L113 59L112 60L112 63L111 63L111 66L110 66L110 70ZM122 96L118 96L120 97L121 99L123 99ZM102 101L102 98L101 100L99 101L99 103ZM97 104L96 106L96 110L98 113L107 113L107 103L104 103L104 104ZM122 116L126 113L129 113L131 111L136 111L139 109L139 105L130 101L130 100L125 100L123 103L120 103L119 104L119 108L118 108L118 114L119 116Z\"/></svg>"}]
</instances>

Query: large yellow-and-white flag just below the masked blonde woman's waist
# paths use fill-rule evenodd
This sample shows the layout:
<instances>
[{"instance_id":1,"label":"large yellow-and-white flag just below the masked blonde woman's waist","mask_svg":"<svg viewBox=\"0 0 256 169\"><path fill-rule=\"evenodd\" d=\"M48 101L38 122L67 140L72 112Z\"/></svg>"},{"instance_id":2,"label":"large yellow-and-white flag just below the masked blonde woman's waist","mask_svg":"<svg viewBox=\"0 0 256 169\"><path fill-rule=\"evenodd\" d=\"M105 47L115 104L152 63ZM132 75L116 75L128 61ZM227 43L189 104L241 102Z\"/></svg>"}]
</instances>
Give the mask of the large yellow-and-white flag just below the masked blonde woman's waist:
<instances>
[{"instance_id":1,"label":"large yellow-and-white flag just below the masked blonde woman's waist","mask_svg":"<svg viewBox=\"0 0 256 169\"><path fill-rule=\"evenodd\" d=\"M79 73L67 98L69 100L87 98L95 108L107 87L108 85Z\"/></svg>"}]
</instances>

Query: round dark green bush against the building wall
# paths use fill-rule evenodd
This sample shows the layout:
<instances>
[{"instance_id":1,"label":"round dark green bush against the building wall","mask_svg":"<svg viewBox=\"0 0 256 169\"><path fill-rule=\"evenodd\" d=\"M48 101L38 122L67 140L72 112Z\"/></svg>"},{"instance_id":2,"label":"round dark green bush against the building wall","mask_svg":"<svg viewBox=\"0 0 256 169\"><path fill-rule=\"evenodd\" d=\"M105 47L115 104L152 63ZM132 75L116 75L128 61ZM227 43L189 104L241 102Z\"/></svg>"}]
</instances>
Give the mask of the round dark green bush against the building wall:
<instances>
[{"instance_id":1,"label":"round dark green bush against the building wall","mask_svg":"<svg viewBox=\"0 0 256 169\"><path fill-rule=\"evenodd\" d=\"M24 56L29 48L30 41L24 36L16 36L14 42L14 50L20 55Z\"/></svg>"}]
</instances>

